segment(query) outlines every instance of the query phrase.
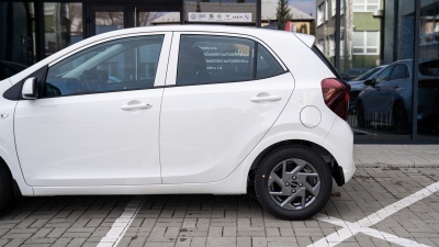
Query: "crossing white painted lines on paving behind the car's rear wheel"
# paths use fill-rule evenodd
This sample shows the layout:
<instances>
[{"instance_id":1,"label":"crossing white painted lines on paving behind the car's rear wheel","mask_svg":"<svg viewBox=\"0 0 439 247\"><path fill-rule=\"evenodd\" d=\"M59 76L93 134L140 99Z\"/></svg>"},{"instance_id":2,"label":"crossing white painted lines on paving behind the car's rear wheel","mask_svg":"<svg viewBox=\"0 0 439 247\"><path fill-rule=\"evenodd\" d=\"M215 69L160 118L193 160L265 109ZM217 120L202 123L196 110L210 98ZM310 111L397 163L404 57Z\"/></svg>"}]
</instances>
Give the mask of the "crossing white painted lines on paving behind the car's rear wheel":
<instances>
[{"instance_id":1,"label":"crossing white painted lines on paving behind the car's rear wheel","mask_svg":"<svg viewBox=\"0 0 439 247\"><path fill-rule=\"evenodd\" d=\"M427 246L419 243L416 243L410 239L402 238L392 234L383 233L378 229L370 228L370 226L383 221L384 218L391 216L392 214L403 210L415 202L418 202L439 190L439 182L435 182L428 186L425 189L419 190L418 192L408 195L386 207L379 210L376 213L373 213L356 223L346 222L336 217L329 217L324 214L316 215L316 220L327 222L334 225L341 226L344 228L326 236L325 238L319 239L318 242L308 245L308 247L317 247L317 246L336 246L341 242L352 237L358 233L363 233L372 237L376 237L393 244L402 245L402 246Z\"/></svg>"}]
</instances>

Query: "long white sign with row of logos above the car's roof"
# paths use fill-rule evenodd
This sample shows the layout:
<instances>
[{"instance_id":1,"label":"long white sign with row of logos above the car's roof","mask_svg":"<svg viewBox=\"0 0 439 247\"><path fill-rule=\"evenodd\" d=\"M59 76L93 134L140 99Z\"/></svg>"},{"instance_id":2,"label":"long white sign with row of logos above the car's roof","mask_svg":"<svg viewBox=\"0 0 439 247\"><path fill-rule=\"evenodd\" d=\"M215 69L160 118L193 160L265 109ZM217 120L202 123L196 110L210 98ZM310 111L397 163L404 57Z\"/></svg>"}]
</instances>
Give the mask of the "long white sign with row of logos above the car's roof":
<instances>
[{"instance_id":1,"label":"long white sign with row of logos above the car's roof","mask_svg":"<svg viewBox=\"0 0 439 247\"><path fill-rule=\"evenodd\" d=\"M251 13L189 12L189 22L251 22Z\"/></svg>"}]
</instances>

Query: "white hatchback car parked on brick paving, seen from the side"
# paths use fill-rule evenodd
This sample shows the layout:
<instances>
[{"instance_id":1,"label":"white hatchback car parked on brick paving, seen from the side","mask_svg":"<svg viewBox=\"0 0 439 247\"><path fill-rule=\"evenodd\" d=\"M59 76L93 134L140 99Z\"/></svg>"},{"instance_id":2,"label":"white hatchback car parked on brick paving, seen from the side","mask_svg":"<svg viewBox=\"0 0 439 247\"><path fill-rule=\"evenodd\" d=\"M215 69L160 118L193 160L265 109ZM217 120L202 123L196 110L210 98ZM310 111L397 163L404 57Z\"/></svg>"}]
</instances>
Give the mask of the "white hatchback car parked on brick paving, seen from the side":
<instances>
[{"instance_id":1,"label":"white hatchback car parked on brick paving, seen from the side","mask_svg":"<svg viewBox=\"0 0 439 247\"><path fill-rule=\"evenodd\" d=\"M0 207L13 197L245 194L303 220L354 172L349 86L313 36L126 29L0 81ZM254 186L254 187L252 187Z\"/></svg>"}]
</instances>

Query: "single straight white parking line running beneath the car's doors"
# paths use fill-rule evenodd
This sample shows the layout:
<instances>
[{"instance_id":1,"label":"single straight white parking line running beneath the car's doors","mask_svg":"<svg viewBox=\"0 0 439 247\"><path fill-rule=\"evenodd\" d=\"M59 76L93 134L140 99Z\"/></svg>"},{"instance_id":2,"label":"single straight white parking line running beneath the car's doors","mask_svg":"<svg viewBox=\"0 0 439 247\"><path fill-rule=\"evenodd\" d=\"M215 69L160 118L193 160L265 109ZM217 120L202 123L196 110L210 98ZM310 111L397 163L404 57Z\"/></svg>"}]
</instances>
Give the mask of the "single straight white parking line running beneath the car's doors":
<instances>
[{"instance_id":1,"label":"single straight white parking line running beneath the car's doors","mask_svg":"<svg viewBox=\"0 0 439 247\"><path fill-rule=\"evenodd\" d=\"M113 247L117 246L122 237L125 235L130 225L133 223L138 211L146 200L146 195L136 195L134 199L126 204L122 215L113 223L111 229L98 244L98 247Z\"/></svg>"}]
</instances>

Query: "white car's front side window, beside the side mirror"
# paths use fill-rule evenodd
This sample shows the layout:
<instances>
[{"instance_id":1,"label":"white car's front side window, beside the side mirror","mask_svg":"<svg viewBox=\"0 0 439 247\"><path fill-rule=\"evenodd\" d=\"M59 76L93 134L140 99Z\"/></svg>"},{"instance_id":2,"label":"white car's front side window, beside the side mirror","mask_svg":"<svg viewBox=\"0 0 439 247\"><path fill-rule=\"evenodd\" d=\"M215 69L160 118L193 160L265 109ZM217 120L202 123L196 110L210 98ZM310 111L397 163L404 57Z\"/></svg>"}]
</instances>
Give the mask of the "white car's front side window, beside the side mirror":
<instances>
[{"instance_id":1,"label":"white car's front side window, beside the side mirror","mask_svg":"<svg viewBox=\"0 0 439 247\"><path fill-rule=\"evenodd\" d=\"M121 38L49 67L43 97L154 87L164 35Z\"/></svg>"}]
</instances>

